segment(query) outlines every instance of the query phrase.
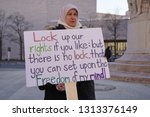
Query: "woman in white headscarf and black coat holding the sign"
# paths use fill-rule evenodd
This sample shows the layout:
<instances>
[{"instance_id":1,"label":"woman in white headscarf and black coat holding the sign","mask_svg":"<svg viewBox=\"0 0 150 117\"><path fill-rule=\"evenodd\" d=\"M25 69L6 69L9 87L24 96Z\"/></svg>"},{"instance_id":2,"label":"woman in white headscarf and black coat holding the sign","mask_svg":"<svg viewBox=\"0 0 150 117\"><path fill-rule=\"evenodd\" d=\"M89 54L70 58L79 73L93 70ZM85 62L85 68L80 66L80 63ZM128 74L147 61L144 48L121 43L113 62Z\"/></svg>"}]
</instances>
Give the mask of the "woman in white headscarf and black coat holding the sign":
<instances>
[{"instance_id":1,"label":"woman in white headscarf and black coat holding the sign","mask_svg":"<svg viewBox=\"0 0 150 117\"><path fill-rule=\"evenodd\" d=\"M57 29L79 29L82 25L78 21L78 9L72 4L64 6L60 12ZM52 85L47 83L45 86L39 86L40 90L45 90L46 100L66 100L65 86L63 83ZM77 92L79 100L94 100L95 89L94 81L77 82Z\"/></svg>"}]
</instances>

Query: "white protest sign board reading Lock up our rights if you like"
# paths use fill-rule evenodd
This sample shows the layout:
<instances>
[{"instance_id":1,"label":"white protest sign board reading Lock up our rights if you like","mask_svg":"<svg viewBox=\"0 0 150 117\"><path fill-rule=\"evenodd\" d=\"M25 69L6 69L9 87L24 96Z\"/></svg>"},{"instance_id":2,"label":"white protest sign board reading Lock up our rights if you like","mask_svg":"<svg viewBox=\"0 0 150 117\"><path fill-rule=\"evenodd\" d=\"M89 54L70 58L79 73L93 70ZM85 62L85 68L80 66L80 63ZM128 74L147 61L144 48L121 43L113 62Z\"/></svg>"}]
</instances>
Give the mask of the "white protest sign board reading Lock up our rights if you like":
<instances>
[{"instance_id":1,"label":"white protest sign board reading Lock up our rights if you like","mask_svg":"<svg viewBox=\"0 0 150 117\"><path fill-rule=\"evenodd\" d=\"M109 78L101 28L24 32L27 86Z\"/></svg>"}]
</instances>

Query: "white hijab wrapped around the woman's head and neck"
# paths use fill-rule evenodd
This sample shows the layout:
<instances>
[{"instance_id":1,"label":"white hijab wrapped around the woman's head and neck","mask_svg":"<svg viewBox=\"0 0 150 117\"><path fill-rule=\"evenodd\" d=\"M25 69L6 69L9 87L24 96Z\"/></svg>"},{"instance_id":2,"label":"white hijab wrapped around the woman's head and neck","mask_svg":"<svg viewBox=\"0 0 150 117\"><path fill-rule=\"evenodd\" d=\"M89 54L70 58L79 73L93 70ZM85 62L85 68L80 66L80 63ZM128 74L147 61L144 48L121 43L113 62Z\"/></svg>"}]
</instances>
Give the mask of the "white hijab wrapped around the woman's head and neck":
<instances>
[{"instance_id":1,"label":"white hijab wrapped around the woman's head and neck","mask_svg":"<svg viewBox=\"0 0 150 117\"><path fill-rule=\"evenodd\" d=\"M77 8L75 5L73 5L73 4L67 4L67 5L65 5L65 6L61 9L61 11L60 11L60 16L59 16L58 24L63 25L63 26L64 26L65 28L67 28L67 29L78 29L78 28L82 27L82 25L81 25L81 23L79 22L78 19L77 19L77 23L76 23L76 26L75 26L75 27L71 27L71 26L69 26L69 25L66 23L65 17L66 17L66 15L67 15L67 13L68 13L68 11L69 11L70 9L75 9L75 10L77 11L77 13L78 13L78 8Z\"/></svg>"}]
</instances>

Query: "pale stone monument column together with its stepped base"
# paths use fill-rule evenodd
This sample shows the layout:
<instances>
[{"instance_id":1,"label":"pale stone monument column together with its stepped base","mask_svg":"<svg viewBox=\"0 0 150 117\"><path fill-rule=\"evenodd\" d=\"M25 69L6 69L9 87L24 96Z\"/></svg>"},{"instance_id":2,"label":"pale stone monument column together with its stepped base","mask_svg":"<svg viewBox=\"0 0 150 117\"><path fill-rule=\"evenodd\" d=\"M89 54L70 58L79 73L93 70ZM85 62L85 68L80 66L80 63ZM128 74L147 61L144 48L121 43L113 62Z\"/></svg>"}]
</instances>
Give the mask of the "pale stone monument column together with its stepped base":
<instances>
[{"instance_id":1,"label":"pale stone monument column together with its stepped base","mask_svg":"<svg viewBox=\"0 0 150 117\"><path fill-rule=\"evenodd\" d=\"M150 83L150 0L128 0L128 5L127 50L110 63L111 79Z\"/></svg>"}]
</instances>

